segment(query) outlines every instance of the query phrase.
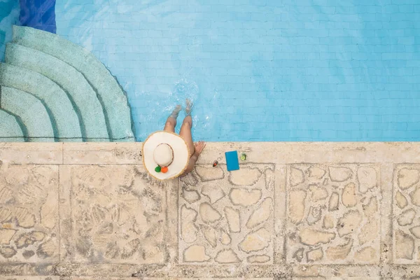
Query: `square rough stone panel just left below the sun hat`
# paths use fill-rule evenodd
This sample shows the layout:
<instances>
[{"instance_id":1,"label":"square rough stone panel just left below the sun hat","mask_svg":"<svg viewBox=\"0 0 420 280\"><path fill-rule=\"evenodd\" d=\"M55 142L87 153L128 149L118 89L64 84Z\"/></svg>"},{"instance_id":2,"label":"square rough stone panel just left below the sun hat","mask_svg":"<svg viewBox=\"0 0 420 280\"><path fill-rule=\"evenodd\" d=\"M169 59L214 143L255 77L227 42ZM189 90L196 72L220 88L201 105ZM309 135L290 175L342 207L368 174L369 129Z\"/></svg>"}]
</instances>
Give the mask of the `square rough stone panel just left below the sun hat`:
<instances>
[{"instance_id":1,"label":"square rough stone panel just left below the sun hat","mask_svg":"<svg viewBox=\"0 0 420 280\"><path fill-rule=\"evenodd\" d=\"M161 263L165 261L167 183L151 178L142 166L104 165L65 167L69 177L72 221L64 260L74 262ZM61 174L61 173L60 173ZM193 242L197 209L182 204L188 221L181 235ZM62 230L65 229L62 227ZM63 251L63 250L62 250Z\"/></svg>"}]
</instances>

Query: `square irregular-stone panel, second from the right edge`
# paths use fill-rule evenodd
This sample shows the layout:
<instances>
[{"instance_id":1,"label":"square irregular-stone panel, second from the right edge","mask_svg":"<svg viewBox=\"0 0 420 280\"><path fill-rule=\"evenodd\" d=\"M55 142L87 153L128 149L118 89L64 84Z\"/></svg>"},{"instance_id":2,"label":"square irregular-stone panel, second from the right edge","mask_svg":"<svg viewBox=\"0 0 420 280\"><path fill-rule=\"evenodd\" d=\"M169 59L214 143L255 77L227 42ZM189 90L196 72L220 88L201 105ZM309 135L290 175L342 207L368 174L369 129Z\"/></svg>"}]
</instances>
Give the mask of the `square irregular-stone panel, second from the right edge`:
<instances>
[{"instance_id":1,"label":"square irregular-stone panel, second from the right edge","mask_svg":"<svg viewBox=\"0 0 420 280\"><path fill-rule=\"evenodd\" d=\"M379 174L370 164L289 165L286 261L379 263Z\"/></svg>"}]
</instances>

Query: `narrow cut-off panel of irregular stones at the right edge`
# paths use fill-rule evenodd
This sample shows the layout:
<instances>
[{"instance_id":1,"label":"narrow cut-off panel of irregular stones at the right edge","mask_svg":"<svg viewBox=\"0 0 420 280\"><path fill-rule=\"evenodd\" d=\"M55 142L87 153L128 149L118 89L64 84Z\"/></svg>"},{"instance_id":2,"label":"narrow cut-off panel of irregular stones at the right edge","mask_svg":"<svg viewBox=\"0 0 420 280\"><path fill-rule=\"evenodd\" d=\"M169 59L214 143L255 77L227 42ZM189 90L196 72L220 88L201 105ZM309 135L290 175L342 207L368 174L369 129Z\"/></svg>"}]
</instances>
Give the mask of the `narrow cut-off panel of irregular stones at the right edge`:
<instances>
[{"instance_id":1,"label":"narrow cut-off panel of irregular stones at the right edge","mask_svg":"<svg viewBox=\"0 0 420 280\"><path fill-rule=\"evenodd\" d=\"M393 172L394 262L420 263L420 165L400 164Z\"/></svg>"}]
</instances>

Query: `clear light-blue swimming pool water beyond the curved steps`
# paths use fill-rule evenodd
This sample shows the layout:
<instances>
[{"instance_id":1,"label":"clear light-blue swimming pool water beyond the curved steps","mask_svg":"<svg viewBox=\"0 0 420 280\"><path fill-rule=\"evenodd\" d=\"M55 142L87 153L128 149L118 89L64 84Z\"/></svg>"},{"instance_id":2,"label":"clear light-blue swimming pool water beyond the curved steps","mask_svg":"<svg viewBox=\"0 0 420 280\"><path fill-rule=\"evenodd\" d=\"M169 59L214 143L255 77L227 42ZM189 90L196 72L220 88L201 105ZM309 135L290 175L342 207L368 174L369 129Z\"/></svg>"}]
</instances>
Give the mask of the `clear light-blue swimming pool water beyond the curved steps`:
<instances>
[{"instance_id":1,"label":"clear light-blue swimming pool water beyond the curved steps","mask_svg":"<svg viewBox=\"0 0 420 280\"><path fill-rule=\"evenodd\" d=\"M57 34L118 78L138 141L187 97L204 141L420 139L417 0L57 0L55 13Z\"/></svg>"}]
</instances>

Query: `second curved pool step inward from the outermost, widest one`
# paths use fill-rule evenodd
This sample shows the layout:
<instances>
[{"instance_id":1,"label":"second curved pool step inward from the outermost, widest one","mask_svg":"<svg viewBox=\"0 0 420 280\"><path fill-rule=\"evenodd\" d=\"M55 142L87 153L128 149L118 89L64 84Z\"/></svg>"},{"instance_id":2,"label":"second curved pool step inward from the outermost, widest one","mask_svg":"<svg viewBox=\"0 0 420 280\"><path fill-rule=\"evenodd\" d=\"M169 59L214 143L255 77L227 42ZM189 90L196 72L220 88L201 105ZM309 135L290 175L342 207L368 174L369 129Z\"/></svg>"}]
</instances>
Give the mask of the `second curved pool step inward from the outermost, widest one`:
<instances>
[{"instance_id":1,"label":"second curved pool step inward from the outermost, widest one","mask_svg":"<svg viewBox=\"0 0 420 280\"><path fill-rule=\"evenodd\" d=\"M85 141L109 141L104 111L96 93L73 66L23 45L6 45L6 63L41 73L62 87L78 113Z\"/></svg>"}]
</instances>

